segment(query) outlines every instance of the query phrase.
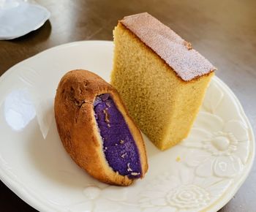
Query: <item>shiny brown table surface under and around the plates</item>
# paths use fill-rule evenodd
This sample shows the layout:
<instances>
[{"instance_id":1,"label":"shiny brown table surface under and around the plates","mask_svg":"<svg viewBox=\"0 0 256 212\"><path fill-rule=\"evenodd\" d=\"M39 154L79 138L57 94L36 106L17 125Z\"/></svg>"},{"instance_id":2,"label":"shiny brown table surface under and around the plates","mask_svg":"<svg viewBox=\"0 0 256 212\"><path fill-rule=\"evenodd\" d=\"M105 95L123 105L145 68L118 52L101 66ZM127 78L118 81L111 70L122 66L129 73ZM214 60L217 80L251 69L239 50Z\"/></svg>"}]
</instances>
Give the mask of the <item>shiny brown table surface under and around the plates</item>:
<instances>
[{"instance_id":1,"label":"shiny brown table surface under and around the plates","mask_svg":"<svg viewBox=\"0 0 256 212\"><path fill-rule=\"evenodd\" d=\"M51 12L37 31L0 41L0 75L42 50L86 39L112 40L125 15L149 12L192 42L234 91L256 134L256 1L254 0L38 0ZM256 164L241 189L220 211L256 211ZM0 211L35 211L0 184Z\"/></svg>"}]
</instances>

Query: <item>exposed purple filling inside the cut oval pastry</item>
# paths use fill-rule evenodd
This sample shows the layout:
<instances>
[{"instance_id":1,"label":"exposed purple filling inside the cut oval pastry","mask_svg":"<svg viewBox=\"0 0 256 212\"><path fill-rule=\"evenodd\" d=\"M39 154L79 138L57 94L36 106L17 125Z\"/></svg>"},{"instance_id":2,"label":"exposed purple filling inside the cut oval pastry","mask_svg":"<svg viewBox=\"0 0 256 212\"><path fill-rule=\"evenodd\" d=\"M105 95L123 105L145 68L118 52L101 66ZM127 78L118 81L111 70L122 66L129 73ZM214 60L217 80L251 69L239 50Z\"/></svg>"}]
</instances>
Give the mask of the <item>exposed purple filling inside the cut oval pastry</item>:
<instances>
[{"instance_id":1,"label":"exposed purple filling inside the cut oval pastry","mask_svg":"<svg viewBox=\"0 0 256 212\"><path fill-rule=\"evenodd\" d=\"M128 178L140 178L138 148L110 94L96 97L94 116L102 137L105 158L110 167L120 175L127 175Z\"/></svg>"}]
</instances>

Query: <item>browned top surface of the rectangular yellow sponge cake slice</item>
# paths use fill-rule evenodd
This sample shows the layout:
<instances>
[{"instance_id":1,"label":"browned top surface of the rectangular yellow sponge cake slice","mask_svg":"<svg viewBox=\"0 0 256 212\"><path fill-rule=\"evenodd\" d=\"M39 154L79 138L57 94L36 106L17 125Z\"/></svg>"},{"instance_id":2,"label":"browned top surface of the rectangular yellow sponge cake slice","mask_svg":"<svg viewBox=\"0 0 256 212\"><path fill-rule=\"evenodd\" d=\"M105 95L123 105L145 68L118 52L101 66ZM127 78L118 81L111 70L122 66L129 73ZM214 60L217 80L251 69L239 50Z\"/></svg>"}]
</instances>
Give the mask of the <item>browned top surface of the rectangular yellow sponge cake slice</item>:
<instances>
[{"instance_id":1,"label":"browned top surface of the rectangular yellow sponge cake slice","mask_svg":"<svg viewBox=\"0 0 256 212\"><path fill-rule=\"evenodd\" d=\"M157 18L143 12L124 17L120 22L154 50L182 80L206 75L216 68Z\"/></svg>"}]
</instances>

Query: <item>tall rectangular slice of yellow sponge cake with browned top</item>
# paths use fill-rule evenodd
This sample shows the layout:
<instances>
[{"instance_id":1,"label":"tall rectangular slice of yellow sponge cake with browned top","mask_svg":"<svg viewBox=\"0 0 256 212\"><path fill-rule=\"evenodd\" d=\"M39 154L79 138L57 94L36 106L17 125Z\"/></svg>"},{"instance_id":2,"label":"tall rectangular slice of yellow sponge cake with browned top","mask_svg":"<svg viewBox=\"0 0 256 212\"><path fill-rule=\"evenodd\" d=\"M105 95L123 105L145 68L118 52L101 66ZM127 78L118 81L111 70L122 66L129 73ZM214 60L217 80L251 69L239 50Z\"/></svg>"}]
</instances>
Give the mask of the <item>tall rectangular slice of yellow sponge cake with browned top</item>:
<instances>
[{"instance_id":1,"label":"tall rectangular slice of yellow sponge cake with browned top","mask_svg":"<svg viewBox=\"0 0 256 212\"><path fill-rule=\"evenodd\" d=\"M148 13L118 21L111 84L139 128L161 150L189 134L216 69Z\"/></svg>"}]
</instances>

